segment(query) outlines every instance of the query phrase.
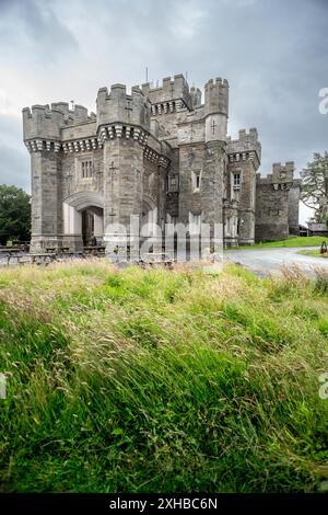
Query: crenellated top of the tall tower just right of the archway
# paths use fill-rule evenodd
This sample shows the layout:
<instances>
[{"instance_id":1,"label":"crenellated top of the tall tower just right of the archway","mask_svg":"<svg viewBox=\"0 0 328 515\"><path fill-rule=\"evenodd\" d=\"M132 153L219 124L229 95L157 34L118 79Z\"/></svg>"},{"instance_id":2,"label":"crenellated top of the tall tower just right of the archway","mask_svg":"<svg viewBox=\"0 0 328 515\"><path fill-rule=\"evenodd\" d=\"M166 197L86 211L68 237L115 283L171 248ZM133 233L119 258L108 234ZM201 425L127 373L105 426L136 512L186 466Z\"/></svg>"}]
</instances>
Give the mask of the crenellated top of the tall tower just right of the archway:
<instances>
[{"instance_id":1,"label":"crenellated top of the tall tower just right of the archway","mask_svg":"<svg viewBox=\"0 0 328 515\"><path fill-rule=\"evenodd\" d=\"M131 88L131 94L127 94L125 84L113 84L110 92L101 88L96 104L98 126L120 122L150 128L151 103L139 85Z\"/></svg>"}]
</instances>

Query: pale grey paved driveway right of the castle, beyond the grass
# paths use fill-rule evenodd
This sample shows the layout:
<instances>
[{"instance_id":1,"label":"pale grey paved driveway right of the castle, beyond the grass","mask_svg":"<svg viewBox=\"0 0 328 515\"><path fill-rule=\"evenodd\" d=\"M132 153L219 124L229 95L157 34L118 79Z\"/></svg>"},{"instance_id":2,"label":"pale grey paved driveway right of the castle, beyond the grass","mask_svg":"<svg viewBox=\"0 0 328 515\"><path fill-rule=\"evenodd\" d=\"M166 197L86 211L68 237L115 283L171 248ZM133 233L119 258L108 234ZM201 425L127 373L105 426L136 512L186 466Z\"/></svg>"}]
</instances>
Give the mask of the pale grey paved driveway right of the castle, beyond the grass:
<instances>
[{"instance_id":1,"label":"pale grey paved driveway right of the castle, beyond the grass","mask_svg":"<svg viewBox=\"0 0 328 515\"><path fill-rule=\"evenodd\" d=\"M230 261L243 264L260 276L280 274L281 266L294 264L309 275L317 266L327 270L328 273L328 259L297 254L300 250L311 249L314 248L231 250L224 252L224 256Z\"/></svg>"}]
</instances>

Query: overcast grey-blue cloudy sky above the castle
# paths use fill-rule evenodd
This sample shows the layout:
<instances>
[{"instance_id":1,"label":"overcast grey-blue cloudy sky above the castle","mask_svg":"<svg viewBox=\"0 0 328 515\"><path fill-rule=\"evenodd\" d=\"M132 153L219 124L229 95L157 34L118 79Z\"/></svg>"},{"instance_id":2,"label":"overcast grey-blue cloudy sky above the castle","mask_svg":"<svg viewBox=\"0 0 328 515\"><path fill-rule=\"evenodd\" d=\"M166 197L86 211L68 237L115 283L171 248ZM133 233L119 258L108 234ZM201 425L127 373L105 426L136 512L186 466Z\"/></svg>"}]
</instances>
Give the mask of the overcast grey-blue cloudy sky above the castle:
<instances>
[{"instance_id":1,"label":"overcast grey-blue cloudy sky above the castle","mask_svg":"<svg viewBox=\"0 0 328 515\"><path fill-rule=\"evenodd\" d=\"M328 0L0 0L0 183L30 191L22 108L188 72L230 82L229 134L257 127L261 173L328 150ZM305 221L307 210L301 209Z\"/></svg>"}]
</instances>

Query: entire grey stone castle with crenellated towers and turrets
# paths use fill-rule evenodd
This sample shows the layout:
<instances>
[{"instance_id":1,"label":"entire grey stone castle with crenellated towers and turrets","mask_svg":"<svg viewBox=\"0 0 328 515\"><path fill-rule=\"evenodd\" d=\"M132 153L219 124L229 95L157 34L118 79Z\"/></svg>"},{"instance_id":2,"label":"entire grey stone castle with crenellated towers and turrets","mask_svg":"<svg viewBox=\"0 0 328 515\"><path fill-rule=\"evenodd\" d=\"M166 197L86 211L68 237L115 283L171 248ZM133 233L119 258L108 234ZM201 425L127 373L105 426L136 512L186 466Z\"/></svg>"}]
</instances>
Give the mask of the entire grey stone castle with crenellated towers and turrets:
<instances>
[{"instance_id":1,"label":"entire grey stone castle with crenellated towers and turrets","mask_svg":"<svg viewBox=\"0 0 328 515\"><path fill-rule=\"evenodd\" d=\"M183 75L161 87L101 88L96 114L65 102L23 110L31 153L31 251L81 251L104 228L140 224L222 225L226 247L298 230L293 162L257 173L256 128L227 137L229 83L209 80L204 100Z\"/></svg>"}]
</instances>

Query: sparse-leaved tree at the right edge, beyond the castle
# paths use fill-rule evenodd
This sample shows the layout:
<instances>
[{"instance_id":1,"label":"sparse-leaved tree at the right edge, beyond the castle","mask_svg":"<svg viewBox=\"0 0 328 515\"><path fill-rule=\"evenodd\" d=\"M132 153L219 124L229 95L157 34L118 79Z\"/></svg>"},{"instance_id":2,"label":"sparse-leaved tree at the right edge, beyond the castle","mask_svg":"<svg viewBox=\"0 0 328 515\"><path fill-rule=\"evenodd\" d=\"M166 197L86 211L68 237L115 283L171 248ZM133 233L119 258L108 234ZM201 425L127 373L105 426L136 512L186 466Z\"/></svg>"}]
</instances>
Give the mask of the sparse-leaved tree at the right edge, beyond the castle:
<instances>
[{"instance_id":1,"label":"sparse-leaved tree at the right edge, beyond the castle","mask_svg":"<svg viewBox=\"0 0 328 515\"><path fill-rule=\"evenodd\" d=\"M314 209L314 220L326 222L328 213L328 152L314 154L314 161L301 173L301 201Z\"/></svg>"}]
</instances>

